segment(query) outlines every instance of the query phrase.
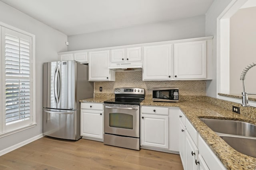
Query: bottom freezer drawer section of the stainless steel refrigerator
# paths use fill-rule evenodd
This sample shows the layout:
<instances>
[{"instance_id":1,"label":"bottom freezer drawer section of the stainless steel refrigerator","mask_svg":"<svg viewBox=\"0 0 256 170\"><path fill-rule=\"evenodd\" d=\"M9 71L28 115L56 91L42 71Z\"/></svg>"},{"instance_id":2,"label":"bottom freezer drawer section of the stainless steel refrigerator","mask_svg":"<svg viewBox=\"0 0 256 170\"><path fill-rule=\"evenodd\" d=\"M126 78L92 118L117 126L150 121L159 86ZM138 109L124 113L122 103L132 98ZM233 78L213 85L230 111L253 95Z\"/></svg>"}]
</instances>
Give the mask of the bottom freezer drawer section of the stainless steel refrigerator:
<instances>
[{"instance_id":1,"label":"bottom freezer drawer section of the stainless steel refrigerator","mask_svg":"<svg viewBox=\"0 0 256 170\"><path fill-rule=\"evenodd\" d=\"M80 139L80 121L76 110L43 110L43 134L61 139ZM78 129L79 128L79 129Z\"/></svg>"}]
</instances>

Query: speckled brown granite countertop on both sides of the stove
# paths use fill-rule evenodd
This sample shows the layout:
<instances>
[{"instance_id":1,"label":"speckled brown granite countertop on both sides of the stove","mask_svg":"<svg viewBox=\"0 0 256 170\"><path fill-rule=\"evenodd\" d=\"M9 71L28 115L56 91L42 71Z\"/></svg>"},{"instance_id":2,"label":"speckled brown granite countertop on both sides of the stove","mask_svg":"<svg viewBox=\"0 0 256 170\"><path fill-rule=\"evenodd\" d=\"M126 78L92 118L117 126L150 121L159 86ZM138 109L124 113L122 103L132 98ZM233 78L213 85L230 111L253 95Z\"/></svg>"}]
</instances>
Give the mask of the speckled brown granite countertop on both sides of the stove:
<instances>
[{"instance_id":1,"label":"speckled brown granite countertop on both sides of the stove","mask_svg":"<svg viewBox=\"0 0 256 170\"><path fill-rule=\"evenodd\" d=\"M112 96L111 96L112 97ZM103 103L111 97L104 96L103 98L89 98L80 100L80 102L98 102ZM182 112L186 115L190 123L195 127L196 131L208 144L210 149L222 161L228 170L237 169L256 169L256 158L242 154L232 147L230 147L224 140L222 140L214 131L212 131L206 124L200 121L199 118L214 118L214 119L230 119L240 120L256 125L255 119L250 119L243 115L229 111L222 107L202 102L204 100L187 100L179 102L153 102L152 98L146 98L140 105L145 106L165 106L165 107L180 107Z\"/></svg>"}]
</instances>

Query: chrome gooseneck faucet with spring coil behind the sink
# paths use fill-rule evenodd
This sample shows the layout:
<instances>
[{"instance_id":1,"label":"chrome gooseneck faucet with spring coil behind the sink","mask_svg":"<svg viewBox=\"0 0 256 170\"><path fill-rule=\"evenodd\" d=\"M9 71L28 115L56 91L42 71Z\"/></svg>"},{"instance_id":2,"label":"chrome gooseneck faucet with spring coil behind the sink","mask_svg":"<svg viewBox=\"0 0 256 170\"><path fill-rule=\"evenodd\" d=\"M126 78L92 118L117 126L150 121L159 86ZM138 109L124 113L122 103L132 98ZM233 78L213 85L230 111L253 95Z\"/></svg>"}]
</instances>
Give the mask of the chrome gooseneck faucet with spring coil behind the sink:
<instances>
[{"instance_id":1,"label":"chrome gooseneck faucet with spring coil behind the sink","mask_svg":"<svg viewBox=\"0 0 256 170\"><path fill-rule=\"evenodd\" d=\"M243 83L242 106L244 106L244 107L250 106L250 105L248 104L248 96L247 96L247 94L255 94L255 95L256 95L256 93L246 93L246 91L245 91L245 85L244 85L244 80L245 80L246 73L248 72L248 70L250 70L250 68L252 68L252 67L254 67L254 66L256 66L256 63L252 63L252 64L250 64L249 66L247 66L247 67L244 69L244 71L242 72L241 77L240 77L240 80L242 80L242 83Z\"/></svg>"}]
</instances>

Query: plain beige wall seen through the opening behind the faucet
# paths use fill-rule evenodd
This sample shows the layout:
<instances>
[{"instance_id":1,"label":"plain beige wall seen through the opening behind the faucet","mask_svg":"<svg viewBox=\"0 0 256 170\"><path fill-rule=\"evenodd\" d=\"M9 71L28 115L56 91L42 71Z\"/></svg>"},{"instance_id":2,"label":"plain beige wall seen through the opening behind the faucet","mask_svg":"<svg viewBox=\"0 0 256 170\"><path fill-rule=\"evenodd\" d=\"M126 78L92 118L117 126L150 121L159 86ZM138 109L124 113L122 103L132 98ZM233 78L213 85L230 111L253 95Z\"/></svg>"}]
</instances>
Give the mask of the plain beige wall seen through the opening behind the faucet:
<instances>
[{"instance_id":1,"label":"plain beige wall seen through the opening behind the faucet","mask_svg":"<svg viewBox=\"0 0 256 170\"><path fill-rule=\"evenodd\" d=\"M256 63L256 7L238 10L230 18L230 94L241 94L240 75L243 69ZM246 74L246 92L256 92L256 66Z\"/></svg>"}]
</instances>

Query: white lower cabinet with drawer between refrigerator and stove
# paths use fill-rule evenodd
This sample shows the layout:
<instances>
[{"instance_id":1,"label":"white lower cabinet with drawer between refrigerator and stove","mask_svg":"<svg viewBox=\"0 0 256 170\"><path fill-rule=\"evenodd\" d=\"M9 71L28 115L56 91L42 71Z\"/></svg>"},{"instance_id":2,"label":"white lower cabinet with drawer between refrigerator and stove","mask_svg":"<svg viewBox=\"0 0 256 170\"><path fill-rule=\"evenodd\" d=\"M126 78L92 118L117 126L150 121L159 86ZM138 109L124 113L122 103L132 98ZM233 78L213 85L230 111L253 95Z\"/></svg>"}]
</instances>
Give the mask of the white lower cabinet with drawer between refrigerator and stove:
<instances>
[{"instance_id":1,"label":"white lower cabinet with drawer between refrigerator and stove","mask_svg":"<svg viewBox=\"0 0 256 170\"><path fill-rule=\"evenodd\" d=\"M103 104L81 103L81 136L103 141Z\"/></svg>"}]
</instances>

